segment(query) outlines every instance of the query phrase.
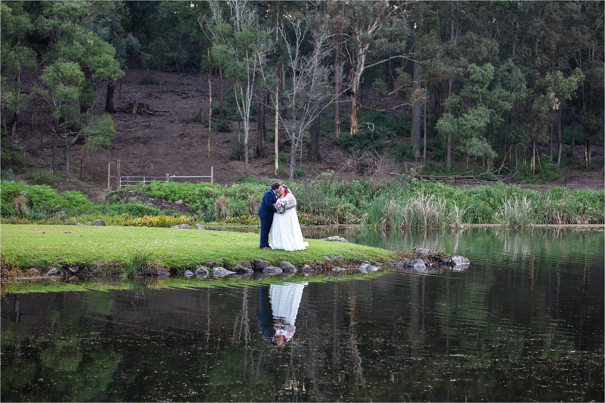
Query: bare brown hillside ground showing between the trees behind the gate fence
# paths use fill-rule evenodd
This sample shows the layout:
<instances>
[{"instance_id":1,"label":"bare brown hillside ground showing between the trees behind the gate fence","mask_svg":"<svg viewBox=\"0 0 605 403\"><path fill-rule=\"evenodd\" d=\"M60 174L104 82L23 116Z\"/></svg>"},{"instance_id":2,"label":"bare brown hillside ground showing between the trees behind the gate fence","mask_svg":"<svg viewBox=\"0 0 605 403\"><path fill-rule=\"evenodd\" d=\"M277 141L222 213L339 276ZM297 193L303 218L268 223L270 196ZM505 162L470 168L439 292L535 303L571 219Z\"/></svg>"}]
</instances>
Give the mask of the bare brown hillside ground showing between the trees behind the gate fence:
<instances>
[{"instance_id":1,"label":"bare brown hillside ground showing between the trees behind the gate fence","mask_svg":"<svg viewBox=\"0 0 605 403\"><path fill-rule=\"evenodd\" d=\"M177 176L210 175L214 167L214 180L219 184L232 184L237 182L244 174L243 161L231 159L234 145L237 142L237 122L233 122L234 130L219 132L213 129L211 138L212 155L207 158L208 127L203 123L195 123L194 118L198 108L204 111L208 108L208 84L193 75L165 73L163 84L159 84L159 74L155 74L153 84L142 84L145 71L141 69L128 69L126 76L116 83L114 106L116 110L122 108L129 101L139 104L148 104L150 108L166 111L162 116L145 117L140 114L132 115L125 112L113 114L116 134L111 139L111 147L99 149L97 152L87 152L80 146L71 150L70 172L74 181L61 181L55 186L59 190L77 189L87 193L93 201L102 201L105 197L103 191L107 187L107 166L111 162L111 175L116 175L116 160L120 160L122 175L136 176L164 176L166 173ZM25 91L31 89L36 80L36 73L26 75ZM223 80L224 92L227 92L229 83ZM105 107L105 86L97 89L99 99L93 109L93 114L101 114ZM213 104L218 106L219 79L213 77ZM342 111L345 113L349 106L343 103ZM16 178L28 179L32 170L48 170L51 159L52 135L47 123L50 122L47 106L41 99L31 104L33 114L22 118L18 127L17 140L24 147L25 165L15 166ZM404 111L397 111L404 113ZM10 115L9 115L10 117ZM33 117L33 127L31 118ZM251 122L250 149L257 144L256 116ZM325 120L323 118L322 120ZM333 121L333 113L328 124ZM9 121L10 122L10 121ZM274 179L273 176L273 115L266 114L267 126L267 158L250 160L250 174L254 176ZM243 129L242 129L243 131ZM327 135L325 135L327 134ZM346 133L344 134L346 135ZM242 134L243 136L243 134ZM297 156L296 167L304 170L306 178L319 176L321 172L335 170L343 178L359 178L354 156L344 155L324 130L321 137L320 153L322 161L311 163L307 161L306 149L303 150L302 167ZM59 146L62 146L59 140ZM569 147L569 146L566 146ZM286 147L287 148L287 147ZM64 175L65 160L64 147L57 152L58 173ZM541 152L548 153L548 147L542 147ZM580 160L581 147L574 150L574 158ZM577 155L576 155L577 154ZM603 149L594 150L593 161L603 164ZM285 161L285 160L284 160ZM287 172L287 164L280 163ZM375 179L393 177L396 173L404 173L408 167L419 168L419 164L397 164L387 158L376 158L372 161L370 176ZM81 165L81 176L80 176ZM3 167L5 169L6 167ZM278 179L286 179L287 173L281 173ZM205 179L201 179L205 180ZM195 179L191 179L195 181ZM589 187L603 189L603 169L596 172L581 172L568 169L567 178L561 179L560 185L566 182L572 189ZM111 187L117 186L116 179L111 180ZM534 189L544 190L549 185L532 185Z\"/></svg>"}]
</instances>

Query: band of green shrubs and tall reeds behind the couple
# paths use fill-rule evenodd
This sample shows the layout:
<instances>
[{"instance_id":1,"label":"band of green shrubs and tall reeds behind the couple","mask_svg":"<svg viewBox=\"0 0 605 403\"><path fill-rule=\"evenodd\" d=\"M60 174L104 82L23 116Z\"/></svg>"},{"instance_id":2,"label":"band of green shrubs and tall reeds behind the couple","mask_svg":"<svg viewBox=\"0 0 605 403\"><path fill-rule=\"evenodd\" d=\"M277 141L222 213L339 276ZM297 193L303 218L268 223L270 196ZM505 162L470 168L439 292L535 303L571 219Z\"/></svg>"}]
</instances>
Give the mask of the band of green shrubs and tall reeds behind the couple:
<instances>
[{"instance_id":1,"label":"band of green shrubs and tall reeds behind the couple","mask_svg":"<svg viewBox=\"0 0 605 403\"><path fill-rule=\"evenodd\" d=\"M514 185L460 189L424 179L373 182L286 182L296 195L301 224L362 224L380 228L445 228L465 224L526 227L535 224L603 224L603 190L551 187L541 194ZM255 215L266 181L221 185L154 182L110 192L106 203L45 185L1 184L4 224L88 224L171 227L176 224L258 225ZM176 205L176 201L183 204Z\"/></svg>"}]
</instances>

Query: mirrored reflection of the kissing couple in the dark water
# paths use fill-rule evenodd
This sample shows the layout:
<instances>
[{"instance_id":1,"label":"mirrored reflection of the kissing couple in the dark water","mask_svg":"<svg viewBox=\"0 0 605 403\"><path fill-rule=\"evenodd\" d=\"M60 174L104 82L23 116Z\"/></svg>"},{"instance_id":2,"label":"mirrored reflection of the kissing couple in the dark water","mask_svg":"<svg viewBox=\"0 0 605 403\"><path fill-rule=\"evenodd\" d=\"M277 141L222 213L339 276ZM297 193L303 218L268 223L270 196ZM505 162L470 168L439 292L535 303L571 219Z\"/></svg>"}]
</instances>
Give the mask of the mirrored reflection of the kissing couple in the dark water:
<instances>
[{"instance_id":1,"label":"mirrored reflection of the kissing couple in the dark water","mask_svg":"<svg viewBox=\"0 0 605 403\"><path fill-rule=\"evenodd\" d=\"M264 340L283 346L294 335L302 289L309 283L282 283L260 286L258 326Z\"/></svg>"}]
</instances>

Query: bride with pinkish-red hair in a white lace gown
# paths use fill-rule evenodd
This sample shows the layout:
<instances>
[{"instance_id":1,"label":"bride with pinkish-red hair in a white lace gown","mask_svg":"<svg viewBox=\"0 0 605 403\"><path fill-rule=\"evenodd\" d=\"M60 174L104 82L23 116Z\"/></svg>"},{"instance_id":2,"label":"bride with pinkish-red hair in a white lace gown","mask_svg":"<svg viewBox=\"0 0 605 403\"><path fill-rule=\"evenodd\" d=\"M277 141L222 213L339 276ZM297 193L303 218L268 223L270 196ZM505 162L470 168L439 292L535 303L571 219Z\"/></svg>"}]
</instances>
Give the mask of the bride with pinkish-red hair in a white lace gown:
<instances>
[{"instance_id":1,"label":"bride with pinkish-red hair in a white lace gown","mask_svg":"<svg viewBox=\"0 0 605 403\"><path fill-rule=\"evenodd\" d=\"M286 210L283 213L273 213L273 224L269 232L269 246L271 249L286 251L301 251L309 246L302 238L301 226L298 224L296 214L296 198L286 185L278 189L279 198L276 204L287 201Z\"/></svg>"}]
</instances>

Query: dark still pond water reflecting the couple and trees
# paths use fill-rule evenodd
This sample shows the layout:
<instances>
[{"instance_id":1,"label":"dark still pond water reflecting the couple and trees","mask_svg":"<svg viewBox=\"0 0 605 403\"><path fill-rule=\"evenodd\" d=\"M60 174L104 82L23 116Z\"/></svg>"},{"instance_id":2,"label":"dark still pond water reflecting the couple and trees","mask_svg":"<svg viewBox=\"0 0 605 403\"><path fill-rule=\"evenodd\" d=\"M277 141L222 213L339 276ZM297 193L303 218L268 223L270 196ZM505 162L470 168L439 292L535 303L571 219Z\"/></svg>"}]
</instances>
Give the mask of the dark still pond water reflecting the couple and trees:
<instances>
[{"instance_id":1,"label":"dark still pond water reflecting the couple and trees","mask_svg":"<svg viewBox=\"0 0 605 403\"><path fill-rule=\"evenodd\" d=\"M2 401L603 401L603 231L305 231L471 265L4 286Z\"/></svg>"}]
</instances>

